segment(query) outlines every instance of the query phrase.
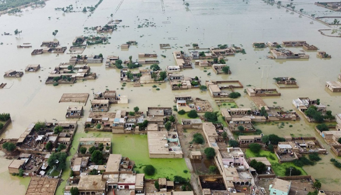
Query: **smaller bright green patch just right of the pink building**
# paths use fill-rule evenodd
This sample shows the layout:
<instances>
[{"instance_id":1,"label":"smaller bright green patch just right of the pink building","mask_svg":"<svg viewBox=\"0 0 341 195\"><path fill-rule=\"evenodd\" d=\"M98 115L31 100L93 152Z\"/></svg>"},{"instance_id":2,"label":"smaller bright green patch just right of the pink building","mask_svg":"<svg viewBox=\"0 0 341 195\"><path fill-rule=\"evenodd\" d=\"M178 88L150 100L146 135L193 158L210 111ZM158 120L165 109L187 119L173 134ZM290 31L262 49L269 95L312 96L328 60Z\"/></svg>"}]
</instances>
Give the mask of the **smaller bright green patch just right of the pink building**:
<instances>
[{"instance_id":1,"label":"smaller bright green patch just right of the pink building","mask_svg":"<svg viewBox=\"0 0 341 195\"><path fill-rule=\"evenodd\" d=\"M271 168L275 172L276 176L285 176L285 168L287 167L295 167L296 169L301 170L302 175L307 175L302 167L297 167L292 162L284 162L280 164L278 162L277 156L273 153L270 153L269 151L261 150L259 154L255 154L251 152L250 149L246 149L245 155L246 157L266 157L267 160L271 163ZM269 156L272 156L274 160L271 159Z\"/></svg>"}]
</instances>

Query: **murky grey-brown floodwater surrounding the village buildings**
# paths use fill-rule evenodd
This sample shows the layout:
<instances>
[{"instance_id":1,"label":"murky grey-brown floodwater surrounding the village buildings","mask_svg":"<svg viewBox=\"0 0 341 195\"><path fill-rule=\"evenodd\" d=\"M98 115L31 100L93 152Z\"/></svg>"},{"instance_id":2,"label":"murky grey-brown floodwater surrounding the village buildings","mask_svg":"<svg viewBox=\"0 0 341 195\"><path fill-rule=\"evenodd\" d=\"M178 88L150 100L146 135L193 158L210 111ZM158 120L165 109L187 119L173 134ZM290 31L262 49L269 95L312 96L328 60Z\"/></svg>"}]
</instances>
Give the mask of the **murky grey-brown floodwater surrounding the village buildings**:
<instances>
[{"instance_id":1,"label":"murky grey-brown floodwater surrounding the village buildings","mask_svg":"<svg viewBox=\"0 0 341 195\"><path fill-rule=\"evenodd\" d=\"M246 50L246 55L237 54L235 57L228 57L227 64L230 66L232 75L217 76L210 68L199 67L184 70L182 73L185 76L198 76L202 81L240 80L244 86L250 84L263 88L277 88L272 80L274 77L294 77L298 81L299 89L280 89L281 97L264 98L265 103L272 105L276 101L276 105L290 110L293 109L291 101L294 98L320 98L321 103L329 105L328 109L334 114L341 113L341 94L332 94L324 88L325 81L335 81L340 74L341 39L322 36L318 32L319 29L332 27L262 0L186 0L186 2L189 2L188 8L181 0L103 0L95 12L88 17L89 13L63 13L55 11L55 8L73 4L75 10L81 10L76 7L95 5L93 0L76 2L74 0L49 0L41 9L23 10L23 13L17 16L2 15L0 17L1 33L14 34L17 28L22 30L22 33L20 37L0 36L0 42L3 42L0 45L0 73L10 69L23 71L28 64L38 63L42 68L37 73L25 73L22 78L0 79L0 82L13 83L10 89L0 90L0 112L10 113L13 119L12 124L1 137L17 138L33 121L52 122L53 118L65 120L66 107L78 103L58 103L63 93L89 93L92 99L93 92L104 91L108 88L116 90L118 94L128 95L129 105L113 105L110 111L123 108L132 110L135 106L142 111L145 111L148 106L172 106L174 94L190 94L194 98L208 99L213 108L218 109L208 92L199 90L173 92L168 82L159 85L160 91L152 88L152 84L134 88L130 83L121 90L119 70L105 69L104 64L90 65L92 72L97 73L98 79L96 80L77 81L71 86L45 85L44 80L49 72L60 62L68 62L71 55L65 52L59 56L55 54L31 56L32 50L40 48L43 40L54 39L52 32L56 29L59 31L56 39L59 40L61 46L69 48L76 36L90 35L83 32L84 27L103 26L111 20L111 14L114 15L114 20L123 20L118 30L109 35L111 44L89 46L83 55L102 53L105 58L108 55L117 55L124 60L133 56L135 60L138 53L157 53L160 66L165 69L167 65L175 64L172 57L173 51L188 51L190 47L185 47L185 44L198 43L202 48L218 44L242 45ZM323 10L312 4L311 0L294 2L296 10L302 7L309 15L312 14L311 12L316 12L316 17L331 15L329 10ZM51 19L49 20L48 17ZM147 20L154 22L156 27L137 28L139 24L148 22ZM92 34L95 35L95 33ZM128 40L136 40L138 45L130 47L128 51L121 51L119 45ZM269 49L254 49L251 46L251 43L255 41L281 42L283 40L306 40L320 50L326 51L332 59L319 59L315 52L307 52L310 55L308 60L270 60L266 59ZM16 47L27 42L32 43L33 48L18 49ZM160 50L160 43L170 43L172 49ZM292 50L298 52L302 48L292 48ZM162 58L161 54L166 58ZM262 70L265 65L270 68L267 70L267 67L264 67L262 79ZM208 73L211 75L208 76ZM243 94L241 98L236 99L238 107L254 107L251 99L244 95L242 89L236 91ZM88 103L85 106L85 117L80 121L85 120L89 115L89 110L90 104ZM316 135L313 125L304 119L290 123L293 123L292 128L287 124L283 129L269 125L258 127L265 134ZM77 131L83 132L81 122ZM325 147L327 148L326 145ZM133 158L133 156L129 157ZM304 167L304 170L315 178L320 178L324 190L341 190L341 171L329 164L329 159L335 156L329 154L322 157L324 164ZM9 163L9 160L0 158L2 193L9 194L16 189L18 194L24 194L28 179L9 176L6 168ZM67 174L63 174L63 179L66 178ZM65 185L65 182L63 184ZM57 195L60 194L62 194L62 187L57 190Z\"/></svg>"}]
</instances>

